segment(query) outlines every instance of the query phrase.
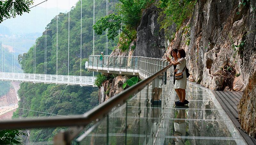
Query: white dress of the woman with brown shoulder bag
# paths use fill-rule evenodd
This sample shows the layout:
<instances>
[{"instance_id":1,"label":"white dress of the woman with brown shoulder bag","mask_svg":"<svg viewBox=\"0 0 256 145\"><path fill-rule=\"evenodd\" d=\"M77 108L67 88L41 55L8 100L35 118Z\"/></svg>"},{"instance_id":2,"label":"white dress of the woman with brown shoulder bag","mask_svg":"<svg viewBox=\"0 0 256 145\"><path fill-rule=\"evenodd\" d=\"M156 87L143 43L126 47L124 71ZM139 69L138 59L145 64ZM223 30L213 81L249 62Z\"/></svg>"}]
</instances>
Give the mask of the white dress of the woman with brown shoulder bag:
<instances>
[{"instance_id":1,"label":"white dress of the woman with brown shoulder bag","mask_svg":"<svg viewBox=\"0 0 256 145\"><path fill-rule=\"evenodd\" d=\"M180 64L177 65L176 69L178 70L177 73L180 73L186 66L186 59L182 57L178 59L178 62L180 62ZM183 72L183 78L180 80L175 80L174 88L187 89L187 75L185 70Z\"/></svg>"}]
</instances>

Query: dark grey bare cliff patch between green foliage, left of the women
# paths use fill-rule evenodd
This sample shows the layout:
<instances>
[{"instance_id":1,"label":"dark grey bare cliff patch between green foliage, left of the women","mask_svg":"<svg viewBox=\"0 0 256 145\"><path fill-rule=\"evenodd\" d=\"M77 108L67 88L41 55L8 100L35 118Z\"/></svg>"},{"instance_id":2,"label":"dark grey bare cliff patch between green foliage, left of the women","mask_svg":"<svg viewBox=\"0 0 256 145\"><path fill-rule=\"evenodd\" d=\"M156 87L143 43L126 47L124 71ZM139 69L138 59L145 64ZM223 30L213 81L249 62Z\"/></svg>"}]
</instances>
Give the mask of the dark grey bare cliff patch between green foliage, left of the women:
<instances>
[{"instance_id":1,"label":"dark grey bare cliff patch between green foliage, left of the women","mask_svg":"<svg viewBox=\"0 0 256 145\"><path fill-rule=\"evenodd\" d=\"M160 30L158 16L159 9L155 5L143 11L137 29L137 45L133 56L162 58L164 55L166 48L164 30Z\"/></svg>"}]
</instances>

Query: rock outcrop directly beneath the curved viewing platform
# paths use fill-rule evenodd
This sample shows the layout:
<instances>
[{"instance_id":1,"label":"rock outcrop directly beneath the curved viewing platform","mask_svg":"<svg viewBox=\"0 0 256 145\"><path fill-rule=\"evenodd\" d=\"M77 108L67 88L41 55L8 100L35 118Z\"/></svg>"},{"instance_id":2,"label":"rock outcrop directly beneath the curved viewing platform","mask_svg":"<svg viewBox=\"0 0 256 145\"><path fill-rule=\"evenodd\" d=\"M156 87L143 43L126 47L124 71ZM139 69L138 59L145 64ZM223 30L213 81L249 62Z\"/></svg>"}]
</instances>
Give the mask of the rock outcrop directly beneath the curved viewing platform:
<instances>
[{"instance_id":1,"label":"rock outcrop directly beneath the curved viewing platform","mask_svg":"<svg viewBox=\"0 0 256 145\"><path fill-rule=\"evenodd\" d=\"M99 103L107 101L109 98L122 92L123 84L128 79L127 76L117 76L113 80L107 80L99 88Z\"/></svg>"}]
</instances>

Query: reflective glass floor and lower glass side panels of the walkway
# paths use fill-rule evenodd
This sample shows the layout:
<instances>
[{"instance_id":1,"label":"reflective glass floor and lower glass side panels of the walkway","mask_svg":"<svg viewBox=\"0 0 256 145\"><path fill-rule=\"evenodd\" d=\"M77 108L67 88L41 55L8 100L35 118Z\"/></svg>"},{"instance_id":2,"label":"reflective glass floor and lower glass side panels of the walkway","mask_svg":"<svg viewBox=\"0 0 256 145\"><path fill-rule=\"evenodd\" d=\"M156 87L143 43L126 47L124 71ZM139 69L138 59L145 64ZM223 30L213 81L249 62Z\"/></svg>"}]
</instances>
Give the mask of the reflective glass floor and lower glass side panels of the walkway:
<instances>
[{"instance_id":1,"label":"reflective glass floor and lower glass side panels of the walkway","mask_svg":"<svg viewBox=\"0 0 256 145\"><path fill-rule=\"evenodd\" d=\"M91 128L81 144L245 144L211 90L188 82L186 106L178 101L172 83L163 86L161 105L151 105L152 86L110 112ZM167 93L168 92L168 93ZM167 96L167 97L163 97Z\"/></svg>"}]
</instances>

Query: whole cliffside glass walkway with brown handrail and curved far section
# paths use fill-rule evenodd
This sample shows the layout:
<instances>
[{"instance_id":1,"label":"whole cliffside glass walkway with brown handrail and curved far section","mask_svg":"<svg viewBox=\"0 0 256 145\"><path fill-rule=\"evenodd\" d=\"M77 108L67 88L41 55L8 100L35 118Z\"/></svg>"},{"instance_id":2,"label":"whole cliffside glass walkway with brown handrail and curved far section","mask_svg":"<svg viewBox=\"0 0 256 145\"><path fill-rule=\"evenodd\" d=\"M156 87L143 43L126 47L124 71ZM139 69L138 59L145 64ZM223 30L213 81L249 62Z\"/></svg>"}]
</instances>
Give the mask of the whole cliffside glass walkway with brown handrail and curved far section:
<instances>
[{"instance_id":1,"label":"whole cliffside glass walkway with brown handrail and curved far section","mask_svg":"<svg viewBox=\"0 0 256 145\"><path fill-rule=\"evenodd\" d=\"M131 74L135 71L143 80L82 116L0 121L0 129L72 126L56 134L54 144L246 144L210 89L188 81L189 103L178 107L174 105L178 97L173 88L173 67L166 60L116 58L106 59L105 65L92 58L88 68L96 66L98 71L117 73L130 69ZM126 66L122 66L123 62ZM84 131L92 122L94 125Z\"/></svg>"}]
</instances>

